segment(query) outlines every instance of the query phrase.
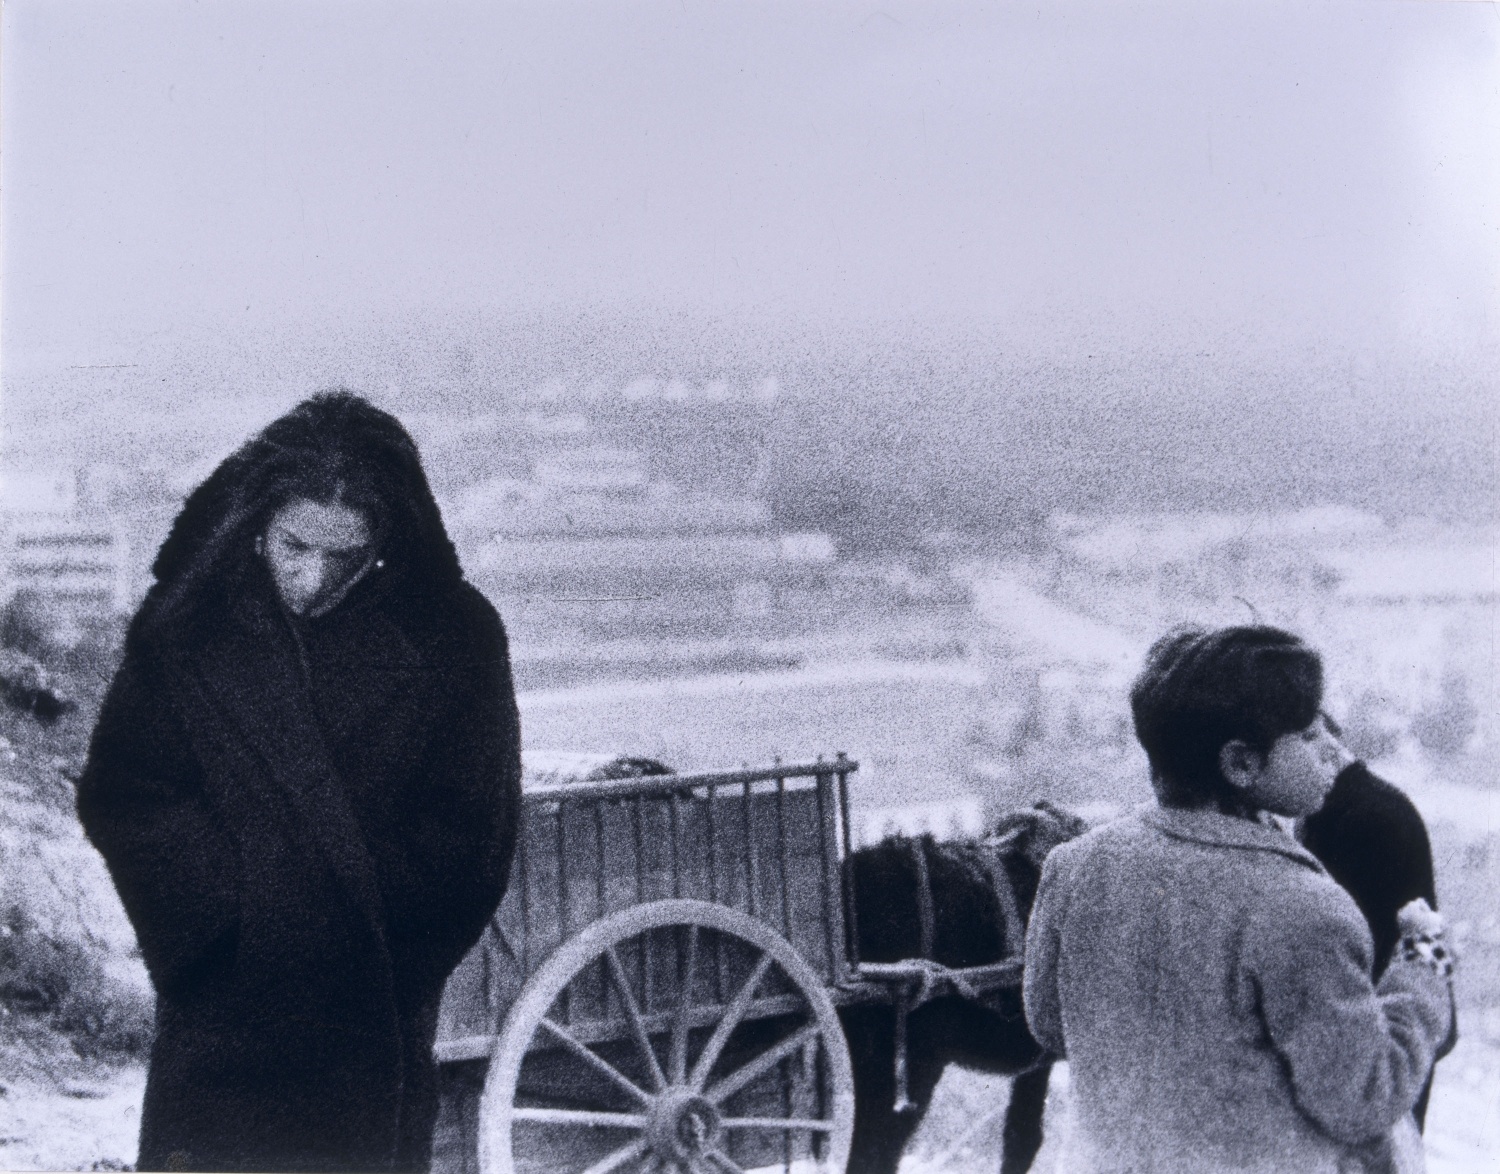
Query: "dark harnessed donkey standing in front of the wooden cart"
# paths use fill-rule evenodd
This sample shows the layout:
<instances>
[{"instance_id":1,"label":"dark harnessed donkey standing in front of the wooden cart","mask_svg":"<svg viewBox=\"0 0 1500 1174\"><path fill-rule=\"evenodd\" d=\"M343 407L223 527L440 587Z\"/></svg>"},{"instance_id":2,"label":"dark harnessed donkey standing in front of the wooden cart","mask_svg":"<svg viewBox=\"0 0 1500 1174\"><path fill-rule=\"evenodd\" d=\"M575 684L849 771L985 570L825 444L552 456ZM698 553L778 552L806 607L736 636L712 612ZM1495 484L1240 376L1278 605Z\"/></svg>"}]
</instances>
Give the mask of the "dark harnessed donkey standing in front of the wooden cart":
<instances>
[{"instance_id":1,"label":"dark harnessed donkey standing in front of the wooden cart","mask_svg":"<svg viewBox=\"0 0 1500 1174\"><path fill-rule=\"evenodd\" d=\"M984 840L888 837L849 858L861 963L926 958L958 969L1018 958L1041 865L1084 822L1041 802L1002 817ZM1012 1077L1000 1174L1024 1174L1041 1149L1052 1057L1026 1029L1018 985L942 994L898 1023L892 1005L840 1011L854 1060L849 1170L896 1174L950 1063ZM897 1074L898 1039L906 1065ZM902 1087L904 1083L904 1087ZM902 1101L903 1104L897 1104Z\"/></svg>"}]
</instances>

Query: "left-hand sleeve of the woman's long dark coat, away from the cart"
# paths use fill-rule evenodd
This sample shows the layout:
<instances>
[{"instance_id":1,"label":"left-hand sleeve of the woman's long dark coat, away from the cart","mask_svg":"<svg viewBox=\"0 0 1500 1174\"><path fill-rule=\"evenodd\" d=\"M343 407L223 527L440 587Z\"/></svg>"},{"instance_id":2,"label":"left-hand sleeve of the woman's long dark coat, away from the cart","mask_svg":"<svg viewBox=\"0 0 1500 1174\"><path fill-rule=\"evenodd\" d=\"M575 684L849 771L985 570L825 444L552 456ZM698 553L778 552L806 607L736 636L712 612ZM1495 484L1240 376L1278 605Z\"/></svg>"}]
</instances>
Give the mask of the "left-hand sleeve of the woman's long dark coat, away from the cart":
<instances>
[{"instance_id":1,"label":"left-hand sleeve of the woman's long dark coat, away from the cart","mask_svg":"<svg viewBox=\"0 0 1500 1174\"><path fill-rule=\"evenodd\" d=\"M165 679L144 654L126 658L99 712L78 819L159 991L189 984L232 949L238 852L204 792Z\"/></svg>"}]
</instances>

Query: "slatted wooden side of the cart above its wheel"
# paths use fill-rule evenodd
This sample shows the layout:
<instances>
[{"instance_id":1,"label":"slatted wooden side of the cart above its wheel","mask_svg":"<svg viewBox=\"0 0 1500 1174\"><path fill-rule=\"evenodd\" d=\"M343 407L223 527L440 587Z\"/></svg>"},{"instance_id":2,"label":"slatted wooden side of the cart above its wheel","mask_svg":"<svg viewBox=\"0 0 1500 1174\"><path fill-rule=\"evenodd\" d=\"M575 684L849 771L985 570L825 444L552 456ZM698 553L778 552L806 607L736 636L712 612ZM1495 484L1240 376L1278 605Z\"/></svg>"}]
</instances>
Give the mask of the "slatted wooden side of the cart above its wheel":
<instances>
[{"instance_id":1,"label":"slatted wooden side of the cart above its wheel","mask_svg":"<svg viewBox=\"0 0 1500 1174\"><path fill-rule=\"evenodd\" d=\"M840 754L530 787L506 900L448 982L440 1059L483 1053L525 981L588 925L660 900L736 909L786 939L825 988L856 982L843 883L855 771ZM650 960L642 966L656 975ZM646 1003L670 996L652 982ZM618 1009L580 1003L568 1018L612 1030L592 1021L612 1023Z\"/></svg>"}]
</instances>

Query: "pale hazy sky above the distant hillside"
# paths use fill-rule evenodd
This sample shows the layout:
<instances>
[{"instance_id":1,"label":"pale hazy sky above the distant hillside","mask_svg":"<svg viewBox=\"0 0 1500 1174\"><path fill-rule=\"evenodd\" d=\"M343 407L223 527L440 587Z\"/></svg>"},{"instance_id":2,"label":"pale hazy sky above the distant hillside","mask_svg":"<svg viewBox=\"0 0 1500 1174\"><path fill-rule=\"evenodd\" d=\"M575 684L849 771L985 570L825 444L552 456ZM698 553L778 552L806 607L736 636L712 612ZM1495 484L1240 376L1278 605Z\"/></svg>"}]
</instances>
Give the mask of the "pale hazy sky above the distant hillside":
<instances>
[{"instance_id":1,"label":"pale hazy sky above the distant hillside","mask_svg":"<svg viewBox=\"0 0 1500 1174\"><path fill-rule=\"evenodd\" d=\"M1492 3L6 0L3 31L10 376L412 309L1450 357L1500 324Z\"/></svg>"}]
</instances>

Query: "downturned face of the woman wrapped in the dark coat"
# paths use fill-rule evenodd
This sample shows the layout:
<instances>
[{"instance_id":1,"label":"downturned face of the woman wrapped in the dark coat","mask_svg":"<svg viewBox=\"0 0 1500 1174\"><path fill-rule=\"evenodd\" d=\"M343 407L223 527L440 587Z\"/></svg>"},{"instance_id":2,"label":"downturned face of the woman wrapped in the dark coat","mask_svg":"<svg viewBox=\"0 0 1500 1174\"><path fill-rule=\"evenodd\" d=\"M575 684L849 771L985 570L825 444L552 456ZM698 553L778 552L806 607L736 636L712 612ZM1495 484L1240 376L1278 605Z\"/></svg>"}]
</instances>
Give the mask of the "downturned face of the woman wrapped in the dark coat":
<instances>
[{"instance_id":1,"label":"downturned face of the woman wrapped in the dark coat","mask_svg":"<svg viewBox=\"0 0 1500 1174\"><path fill-rule=\"evenodd\" d=\"M333 607L374 562L370 526L348 505L292 498L266 528L262 552L282 603L294 615Z\"/></svg>"}]
</instances>

